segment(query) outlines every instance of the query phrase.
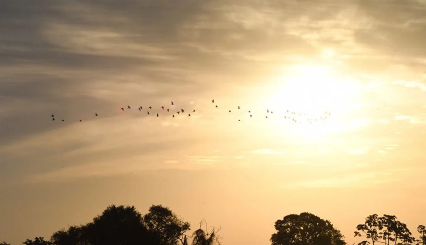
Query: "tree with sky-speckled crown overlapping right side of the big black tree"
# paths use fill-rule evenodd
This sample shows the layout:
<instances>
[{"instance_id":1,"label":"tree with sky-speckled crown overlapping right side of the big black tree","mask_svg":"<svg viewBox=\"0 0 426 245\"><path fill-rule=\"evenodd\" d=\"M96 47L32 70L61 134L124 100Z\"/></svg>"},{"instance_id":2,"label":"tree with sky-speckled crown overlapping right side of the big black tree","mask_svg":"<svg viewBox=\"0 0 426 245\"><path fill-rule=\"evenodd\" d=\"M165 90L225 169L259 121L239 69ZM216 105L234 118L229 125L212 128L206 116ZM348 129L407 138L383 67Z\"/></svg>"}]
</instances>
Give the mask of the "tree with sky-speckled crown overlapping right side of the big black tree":
<instances>
[{"instance_id":1,"label":"tree with sky-speckled crown overlapping right side of the big black tree","mask_svg":"<svg viewBox=\"0 0 426 245\"><path fill-rule=\"evenodd\" d=\"M184 233L190 230L190 223L179 219L168 207L152 205L144 215L148 230L160 237L160 244L175 245L184 243Z\"/></svg>"}]
</instances>

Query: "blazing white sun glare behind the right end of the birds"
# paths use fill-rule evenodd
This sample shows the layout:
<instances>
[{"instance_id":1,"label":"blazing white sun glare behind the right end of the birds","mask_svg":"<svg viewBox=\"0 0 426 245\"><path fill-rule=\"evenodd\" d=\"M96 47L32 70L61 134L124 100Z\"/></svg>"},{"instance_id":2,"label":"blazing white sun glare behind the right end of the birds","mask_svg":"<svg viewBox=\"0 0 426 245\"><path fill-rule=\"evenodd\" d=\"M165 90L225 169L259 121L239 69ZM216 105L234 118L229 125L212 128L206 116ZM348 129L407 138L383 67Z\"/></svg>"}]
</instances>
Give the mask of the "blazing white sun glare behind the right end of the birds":
<instances>
[{"instance_id":1,"label":"blazing white sun glare behind the right end of the birds","mask_svg":"<svg viewBox=\"0 0 426 245\"><path fill-rule=\"evenodd\" d=\"M328 66L291 66L283 73L275 78L273 94L267 99L281 115L274 117L278 125L289 122L293 134L307 137L330 135L344 128L340 116L354 105L354 81L338 76ZM287 111L297 122L282 117Z\"/></svg>"}]
</instances>

